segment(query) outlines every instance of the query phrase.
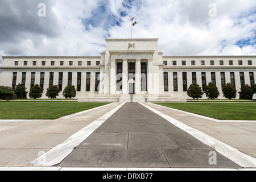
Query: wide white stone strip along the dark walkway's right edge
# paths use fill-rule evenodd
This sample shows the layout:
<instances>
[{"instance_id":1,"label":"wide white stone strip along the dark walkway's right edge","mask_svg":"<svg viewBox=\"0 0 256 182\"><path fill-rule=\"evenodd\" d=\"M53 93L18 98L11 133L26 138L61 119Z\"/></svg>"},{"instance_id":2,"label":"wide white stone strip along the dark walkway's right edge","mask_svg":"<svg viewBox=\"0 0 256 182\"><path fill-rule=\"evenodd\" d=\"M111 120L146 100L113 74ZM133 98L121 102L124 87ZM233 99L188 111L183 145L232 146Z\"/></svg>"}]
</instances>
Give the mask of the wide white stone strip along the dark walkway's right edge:
<instances>
[{"instance_id":1,"label":"wide white stone strip along the dark walkway's right edge","mask_svg":"<svg viewBox=\"0 0 256 182\"><path fill-rule=\"evenodd\" d=\"M181 123L180 121L177 121L176 119L161 113L158 110L152 109L149 106L146 106L139 102L139 104L143 105L147 109L153 111L154 113L160 115L160 117L163 117L167 121L171 122L173 125L179 127L181 130L184 130L188 134L191 134L193 137L199 139L204 144L207 144L209 147L213 148L220 154L224 155L226 158L232 160L234 163L238 164L241 167L244 168L255 168L256 167L256 159L243 154L242 152L238 151L236 148L230 147L225 143L220 142L219 140L210 137L207 134L204 134L203 132L193 129L190 126L185 125L184 123Z\"/></svg>"}]
</instances>

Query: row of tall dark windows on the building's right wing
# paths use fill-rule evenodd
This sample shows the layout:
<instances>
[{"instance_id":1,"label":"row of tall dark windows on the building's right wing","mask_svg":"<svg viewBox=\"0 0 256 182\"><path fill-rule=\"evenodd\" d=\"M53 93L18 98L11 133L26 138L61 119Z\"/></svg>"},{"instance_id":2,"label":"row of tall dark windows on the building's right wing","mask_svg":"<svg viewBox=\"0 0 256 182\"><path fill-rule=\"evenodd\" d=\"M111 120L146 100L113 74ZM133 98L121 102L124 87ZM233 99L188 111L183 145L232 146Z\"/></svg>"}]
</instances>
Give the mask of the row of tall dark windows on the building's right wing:
<instances>
[{"instance_id":1,"label":"row of tall dark windows on the building's right wing","mask_svg":"<svg viewBox=\"0 0 256 182\"><path fill-rule=\"evenodd\" d=\"M168 82L168 72L164 73L164 92L169 92L169 82ZM178 77L177 72L172 73L173 74L173 83L174 83L174 92L178 92ZM224 88L224 85L226 85L228 82L226 82L226 75L225 72L221 72L221 87L222 90ZM250 76L250 84L251 86L255 84L254 80L254 72L249 73ZM183 92L187 92L188 89L188 79L187 79L187 72L182 73L182 81L183 81ZM199 79L199 78L198 78ZM207 80L207 76L205 72L201 72L201 83L202 83L202 89L205 91L205 87L207 86L208 82L212 82L214 85L216 85L216 73L211 72L210 73L210 80ZM230 83L236 88L236 77L234 72L230 72ZM241 86L245 84L245 73L240 72L240 82ZM196 72L192 72L192 84L197 83L197 74Z\"/></svg>"}]
</instances>

